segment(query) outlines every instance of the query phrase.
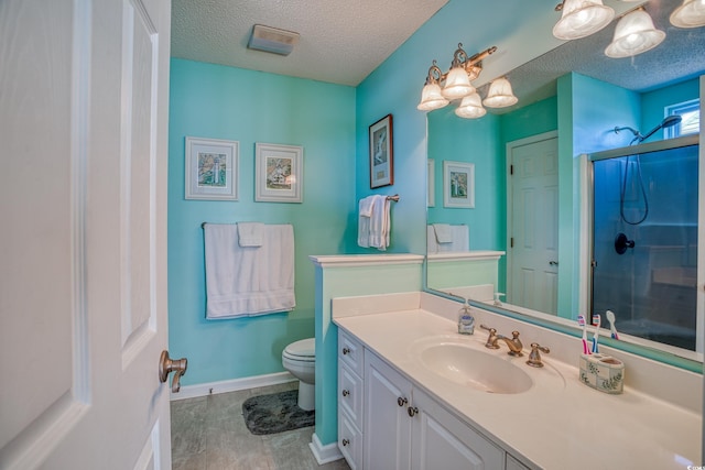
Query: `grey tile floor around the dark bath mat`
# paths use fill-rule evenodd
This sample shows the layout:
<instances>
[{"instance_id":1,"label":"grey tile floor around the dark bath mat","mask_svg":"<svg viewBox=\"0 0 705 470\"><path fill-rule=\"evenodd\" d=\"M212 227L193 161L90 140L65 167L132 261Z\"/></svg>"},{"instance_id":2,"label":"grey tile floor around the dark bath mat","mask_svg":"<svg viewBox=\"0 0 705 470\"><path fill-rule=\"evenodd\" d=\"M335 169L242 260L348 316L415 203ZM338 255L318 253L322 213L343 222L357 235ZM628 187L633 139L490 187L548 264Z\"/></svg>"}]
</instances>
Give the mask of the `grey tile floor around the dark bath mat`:
<instances>
[{"instance_id":1,"label":"grey tile floor around the dark bath mat","mask_svg":"<svg viewBox=\"0 0 705 470\"><path fill-rule=\"evenodd\" d=\"M242 402L296 389L297 382L178 400L172 408L173 470L349 470L345 460L318 466L308 442L314 428L250 434Z\"/></svg>"}]
</instances>

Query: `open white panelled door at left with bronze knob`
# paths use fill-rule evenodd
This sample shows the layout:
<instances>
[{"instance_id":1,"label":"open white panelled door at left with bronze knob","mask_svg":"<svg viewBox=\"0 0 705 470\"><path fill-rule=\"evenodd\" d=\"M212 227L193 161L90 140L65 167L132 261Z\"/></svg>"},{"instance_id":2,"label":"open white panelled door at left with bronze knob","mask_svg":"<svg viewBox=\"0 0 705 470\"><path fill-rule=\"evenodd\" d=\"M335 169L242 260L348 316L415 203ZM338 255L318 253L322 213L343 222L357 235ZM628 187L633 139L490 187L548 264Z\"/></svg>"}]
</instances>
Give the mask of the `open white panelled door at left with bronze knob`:
<instances>
[{"instance_id":1,"label":"open white panelled door at left with bronze knob","mask_svg":"<svg viewBox=\"0 0 705 470\"><path fill-rule=\"evenodd\" d=\"M0 1L0 468L171 468L169 0Z\"/></svg>"}]
</instances>

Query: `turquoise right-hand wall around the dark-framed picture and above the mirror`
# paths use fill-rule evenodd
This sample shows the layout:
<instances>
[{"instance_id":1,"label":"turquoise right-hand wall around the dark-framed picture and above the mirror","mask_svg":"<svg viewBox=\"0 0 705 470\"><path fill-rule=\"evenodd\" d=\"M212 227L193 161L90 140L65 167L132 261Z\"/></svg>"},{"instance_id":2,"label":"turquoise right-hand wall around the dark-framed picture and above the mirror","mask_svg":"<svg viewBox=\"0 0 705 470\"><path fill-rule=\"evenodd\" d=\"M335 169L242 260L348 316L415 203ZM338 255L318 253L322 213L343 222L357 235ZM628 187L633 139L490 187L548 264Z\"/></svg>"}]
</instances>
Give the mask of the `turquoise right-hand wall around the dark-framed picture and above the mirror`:
<instances>
[{"instance_id":1,"label":"turquoise right-hand wall around the dark-framed picture and above the mirror","mask_svg":"<svg viewBox=\"0 0 705 470\"><path fill-rule=\"evenodd\" d=\"M523 4L521 0L506 0L502 9L519 11ZM549 0L538 0L535 6L545 11L553 11L554 7L555 2ZM561 43L551 34L555 22L551 14L505 15L502 21L468 23L468 19L478 18L497 18L497 6L448 1L357 88L356 197L373 193L398 193L402 197L392 212L391 252L425 253L426 249L426 195L420 190L426 187L426 113L416 110L416 105L432 61L438 59L438 65L447 68L458 42L470 55L496 45L498 52L484 61L485 72L476 80L479 86ZM388 113L394 119L394 185L372 190L368 127Z\"/></svg>"}]
</instances>

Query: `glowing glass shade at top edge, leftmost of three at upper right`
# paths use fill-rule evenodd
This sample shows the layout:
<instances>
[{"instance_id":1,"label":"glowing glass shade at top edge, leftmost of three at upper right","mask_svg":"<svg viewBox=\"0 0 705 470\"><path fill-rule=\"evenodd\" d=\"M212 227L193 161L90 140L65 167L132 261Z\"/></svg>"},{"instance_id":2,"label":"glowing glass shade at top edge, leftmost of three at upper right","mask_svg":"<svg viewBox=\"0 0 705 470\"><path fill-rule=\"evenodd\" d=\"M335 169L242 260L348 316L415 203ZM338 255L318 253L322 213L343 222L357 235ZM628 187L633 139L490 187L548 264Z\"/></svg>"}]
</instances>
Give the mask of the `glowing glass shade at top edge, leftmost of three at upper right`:
<instances>
[{"instance_id":1,"label":"glowing glass shade at top edge, leftmost of three at upper right","mask_svg":"<svg viewBox=\"0 0 705 470\"><path fill-rule=\"evenodd\" d=\"M615 10L603 0L565 0L561 20L553 26L553 35L560 40L577 40L589 36L607 26L615 18Z\"/></svg>"}]
</instances>

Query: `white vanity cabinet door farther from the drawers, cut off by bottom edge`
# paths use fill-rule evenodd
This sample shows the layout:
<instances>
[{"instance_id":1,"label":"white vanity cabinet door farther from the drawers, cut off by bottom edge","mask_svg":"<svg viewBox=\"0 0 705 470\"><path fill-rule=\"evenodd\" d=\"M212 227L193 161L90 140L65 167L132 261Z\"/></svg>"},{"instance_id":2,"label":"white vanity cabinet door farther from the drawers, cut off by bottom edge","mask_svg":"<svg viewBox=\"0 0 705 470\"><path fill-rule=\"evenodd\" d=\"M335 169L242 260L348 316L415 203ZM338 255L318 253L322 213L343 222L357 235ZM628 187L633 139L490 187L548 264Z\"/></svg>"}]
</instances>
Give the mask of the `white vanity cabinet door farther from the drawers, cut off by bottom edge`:
<instances>
[{"instance_id":1,"label":"white vanity cabinet door farther from the drawers, cut off by bottom edge","mask_svg":"<svg viewBox=\"0 0 705 470\"><path fill-rule=\"evenodd\" d=\"M495 470L505 468L505 451L419 390L414 391L412 468Z\"/></svg>"}]
</instances>

